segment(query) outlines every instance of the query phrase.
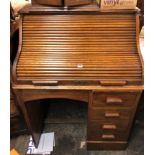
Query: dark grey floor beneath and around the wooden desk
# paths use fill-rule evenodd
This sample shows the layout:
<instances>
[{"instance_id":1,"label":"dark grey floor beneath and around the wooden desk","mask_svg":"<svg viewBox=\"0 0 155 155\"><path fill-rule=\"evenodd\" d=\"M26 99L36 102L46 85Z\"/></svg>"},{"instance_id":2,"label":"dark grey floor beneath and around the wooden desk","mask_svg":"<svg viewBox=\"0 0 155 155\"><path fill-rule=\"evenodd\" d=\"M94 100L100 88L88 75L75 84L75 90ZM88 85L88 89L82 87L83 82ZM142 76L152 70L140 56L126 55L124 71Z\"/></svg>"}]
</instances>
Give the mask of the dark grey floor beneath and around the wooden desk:
<instances>
[{"instance_id":1,"label":"dark grey floor beneath and around the wooden desk","mask_svg":"<svg viewBox=\"0 0 155 155\"><path fill-rule=\"evenodd\" d=\"M52 102L52 101L51 101ZM58 104L59 103L59 104ZM87 151L87 104L75 101L56 101L50 104L45 119L44 132L55 132L56 146L52 155L143 155L144 131L135 122L129 145L123 151ZM20 155L26 154L29 135L20 135L11 139L11 148Z\"/></svg>"}]
</instances>

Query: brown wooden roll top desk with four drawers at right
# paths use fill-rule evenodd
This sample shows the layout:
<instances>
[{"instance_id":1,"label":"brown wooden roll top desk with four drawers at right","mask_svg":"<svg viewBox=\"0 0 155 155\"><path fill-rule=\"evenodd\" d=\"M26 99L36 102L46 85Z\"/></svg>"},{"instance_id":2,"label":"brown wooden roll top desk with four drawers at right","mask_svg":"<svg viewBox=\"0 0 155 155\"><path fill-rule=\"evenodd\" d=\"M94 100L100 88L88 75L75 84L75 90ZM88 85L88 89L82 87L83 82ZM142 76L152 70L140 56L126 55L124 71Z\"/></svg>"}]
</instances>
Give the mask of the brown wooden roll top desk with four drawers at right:
<instances>
[{"instance_id":1,"label":"brown wooden roll top desk with four drawers at right","mask_svg":"<svg viewBox=\"0 0 155 155\"><path fill-rule=\"evenodd\" d=\"M27 102L66 98L88 103L87 149L126 148L143 90L139 10L31 6L19 38L13 90L35 145L42 109Z\"/></svg>"}]
</instances>

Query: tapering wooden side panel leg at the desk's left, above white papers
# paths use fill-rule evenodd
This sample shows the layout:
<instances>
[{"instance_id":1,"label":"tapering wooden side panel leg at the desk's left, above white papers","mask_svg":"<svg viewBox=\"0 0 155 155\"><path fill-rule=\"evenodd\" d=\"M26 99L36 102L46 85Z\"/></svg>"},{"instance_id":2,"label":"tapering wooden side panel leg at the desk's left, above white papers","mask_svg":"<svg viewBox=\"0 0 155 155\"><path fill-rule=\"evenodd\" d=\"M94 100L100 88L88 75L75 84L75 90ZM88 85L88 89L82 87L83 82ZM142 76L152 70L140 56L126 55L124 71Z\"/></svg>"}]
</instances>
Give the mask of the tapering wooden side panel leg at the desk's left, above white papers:
<instances>
[{"instance_id":1,"label":"tapering wooden side panel leg at the desk's left, above white papers","mask_svg":"<svg viewBox=\"0 0 155 155\"><path fill-rule=\"evenodd\" d=\"M43 130L43 120L45 116L46 106L39 100L32 102L24 102L22 90L14 90L17 102L23 113L29 134L32 136L35 146L39 144L40 136Z\"/></svg>"}]
</instances>

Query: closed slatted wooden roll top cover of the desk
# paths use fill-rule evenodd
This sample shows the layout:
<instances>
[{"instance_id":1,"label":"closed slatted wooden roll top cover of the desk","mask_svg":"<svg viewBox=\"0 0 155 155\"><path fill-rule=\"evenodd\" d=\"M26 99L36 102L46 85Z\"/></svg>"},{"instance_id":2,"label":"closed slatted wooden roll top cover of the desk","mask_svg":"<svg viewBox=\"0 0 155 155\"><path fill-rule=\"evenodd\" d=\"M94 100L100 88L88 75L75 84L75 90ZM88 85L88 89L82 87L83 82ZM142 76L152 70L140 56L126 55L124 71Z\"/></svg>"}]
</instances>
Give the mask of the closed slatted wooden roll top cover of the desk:
<instances>
[{"instance_id":1,"label":"closed slatted wooden roll top cover of the desk","mask_svg":"<svg viewBox=\"0 0 155 155\"><path fill-rule=\"evenodd\" d=\"M17 79L142 81L131 14L24 15Z\"/></svg>"}]
</instances>

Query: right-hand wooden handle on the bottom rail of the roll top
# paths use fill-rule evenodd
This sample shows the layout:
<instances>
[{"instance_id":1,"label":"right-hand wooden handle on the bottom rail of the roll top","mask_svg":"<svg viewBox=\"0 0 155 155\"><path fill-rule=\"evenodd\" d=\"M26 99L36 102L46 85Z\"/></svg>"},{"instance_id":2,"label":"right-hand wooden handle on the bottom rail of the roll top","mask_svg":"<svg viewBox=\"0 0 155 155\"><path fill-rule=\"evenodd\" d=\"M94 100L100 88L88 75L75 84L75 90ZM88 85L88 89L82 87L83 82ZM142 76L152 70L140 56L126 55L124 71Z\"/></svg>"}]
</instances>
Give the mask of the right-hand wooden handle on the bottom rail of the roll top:
<instances>
[{"instance_id":1,"label":"right-hand wooden handle on the bottom rail of the roll top","mask_svg":"<svg viewBox=\"0 0 155 155\"><path fill-rule=\"evenodd\" d=\"M127 81L125 80L103 80L100 81L102 86L124 86L126 85Z\"/></svg>"}]
</instances>

